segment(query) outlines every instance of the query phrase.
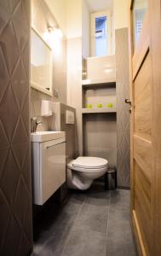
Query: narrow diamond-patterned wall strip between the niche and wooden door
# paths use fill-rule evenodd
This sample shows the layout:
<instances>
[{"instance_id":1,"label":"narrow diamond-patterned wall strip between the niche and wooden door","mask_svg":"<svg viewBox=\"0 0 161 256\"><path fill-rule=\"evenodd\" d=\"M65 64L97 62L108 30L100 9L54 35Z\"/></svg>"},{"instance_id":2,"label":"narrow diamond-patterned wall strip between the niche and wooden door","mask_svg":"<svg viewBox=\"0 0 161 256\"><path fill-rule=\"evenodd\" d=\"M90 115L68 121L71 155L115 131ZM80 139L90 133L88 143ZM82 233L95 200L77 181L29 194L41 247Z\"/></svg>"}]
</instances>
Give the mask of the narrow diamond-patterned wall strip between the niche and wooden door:
<instances>
[{"instance_id":1,"label":"narrow diamond-patterned wall strip between the niche and wooden door","mask_svg":"<svg viewBox=\"0 0 161 256\"><path fill-rule=\"evenodd\" d=\"M116 30L116 80L117 80L117 169L118 186L129 188L129 48L128 28Z\"/></svg>"}]
</instances>

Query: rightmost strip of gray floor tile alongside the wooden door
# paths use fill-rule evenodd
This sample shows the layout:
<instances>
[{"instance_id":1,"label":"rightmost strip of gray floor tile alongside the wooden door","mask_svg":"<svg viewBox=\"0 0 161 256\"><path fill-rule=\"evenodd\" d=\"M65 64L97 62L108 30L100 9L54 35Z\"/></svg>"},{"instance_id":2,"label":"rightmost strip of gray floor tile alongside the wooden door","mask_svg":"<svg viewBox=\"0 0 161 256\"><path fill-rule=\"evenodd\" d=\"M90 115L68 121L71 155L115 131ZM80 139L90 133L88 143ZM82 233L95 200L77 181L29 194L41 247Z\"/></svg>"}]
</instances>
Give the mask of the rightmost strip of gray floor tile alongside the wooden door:
<instances>
[{"instance_id":1,"label":"rightmost strip of gray floor tile alongside the wooden door","mask_svg":"<svg viewBox=\"0 0 161 256\"><path fill-rule=\"evenodd\" d=\"M106 256L136 256L135 242L130 226L129 191L113 192L108 218Z\"/></svg>"}]
</instances>

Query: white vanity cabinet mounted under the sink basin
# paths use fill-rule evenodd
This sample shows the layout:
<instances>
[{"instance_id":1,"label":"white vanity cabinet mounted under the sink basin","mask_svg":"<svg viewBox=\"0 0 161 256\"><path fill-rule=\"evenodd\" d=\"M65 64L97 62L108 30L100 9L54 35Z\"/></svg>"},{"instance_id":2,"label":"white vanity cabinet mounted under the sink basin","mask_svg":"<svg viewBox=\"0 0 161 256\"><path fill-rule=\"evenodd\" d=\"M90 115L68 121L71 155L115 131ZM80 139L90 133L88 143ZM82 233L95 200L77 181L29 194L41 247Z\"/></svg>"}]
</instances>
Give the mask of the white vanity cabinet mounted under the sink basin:
<instances>
[{"instance_id":1,"label":"white vanity cabinet mounted under the sink basin","mask_svg":"<svg viewBox=\"0 0 161 256\"><path fill-rule=\"evenodd\" d=\"M49 141L32 142L33 203L43 205L66 181L65 132L55 133ZM39 137L37 135L37 141Z\"/></svg>"}]
</instances>

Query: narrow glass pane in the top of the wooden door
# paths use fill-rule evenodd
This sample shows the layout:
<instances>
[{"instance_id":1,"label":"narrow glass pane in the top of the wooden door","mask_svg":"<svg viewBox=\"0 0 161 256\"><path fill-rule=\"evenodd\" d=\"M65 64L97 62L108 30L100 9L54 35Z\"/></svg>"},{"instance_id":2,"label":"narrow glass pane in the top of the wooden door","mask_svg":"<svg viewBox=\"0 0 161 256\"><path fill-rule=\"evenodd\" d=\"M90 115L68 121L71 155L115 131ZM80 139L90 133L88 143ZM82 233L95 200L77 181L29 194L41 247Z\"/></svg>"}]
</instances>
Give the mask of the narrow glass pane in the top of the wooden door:
<instances>
[{"instance_id":1,"label":"narrow glass pane in the top of the wooden door","mask_svg":"<svg viewBox=\"0 0 161 256\"><path fill-rule=\"evenodd\" d=\"M133 34L134 49L139 41L145 15L147 13L147 0L135 0L133 5Z\"/></svg>"}]
</instances>

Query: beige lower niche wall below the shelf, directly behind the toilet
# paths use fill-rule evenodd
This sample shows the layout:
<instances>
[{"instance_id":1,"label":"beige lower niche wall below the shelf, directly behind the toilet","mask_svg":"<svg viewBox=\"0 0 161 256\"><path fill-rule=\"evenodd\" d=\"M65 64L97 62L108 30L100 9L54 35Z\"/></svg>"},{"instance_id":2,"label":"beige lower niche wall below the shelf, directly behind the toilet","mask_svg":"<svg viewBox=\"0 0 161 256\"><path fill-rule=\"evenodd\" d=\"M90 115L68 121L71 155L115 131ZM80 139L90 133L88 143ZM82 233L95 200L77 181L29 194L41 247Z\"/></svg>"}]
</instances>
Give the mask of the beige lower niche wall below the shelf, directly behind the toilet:
<instances>
[{"instance_id":1,"label":"beige lower niche wall below the shelf, directly behind the toilet","mask_svg":"<svg viewBox=\"0 0 161 256\"><path fill-rule=\"evenodd\" d=\"M117 166L116 114L83 115L83 154L105 158L109 166Z\"/></svg>"}]
</instances>

